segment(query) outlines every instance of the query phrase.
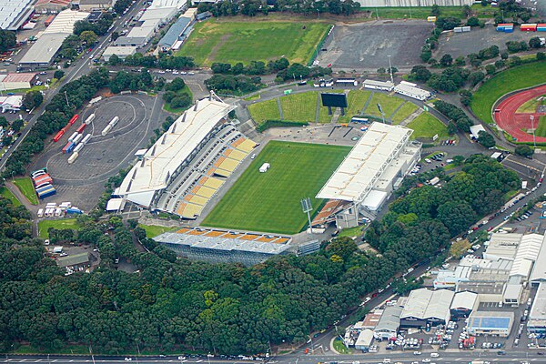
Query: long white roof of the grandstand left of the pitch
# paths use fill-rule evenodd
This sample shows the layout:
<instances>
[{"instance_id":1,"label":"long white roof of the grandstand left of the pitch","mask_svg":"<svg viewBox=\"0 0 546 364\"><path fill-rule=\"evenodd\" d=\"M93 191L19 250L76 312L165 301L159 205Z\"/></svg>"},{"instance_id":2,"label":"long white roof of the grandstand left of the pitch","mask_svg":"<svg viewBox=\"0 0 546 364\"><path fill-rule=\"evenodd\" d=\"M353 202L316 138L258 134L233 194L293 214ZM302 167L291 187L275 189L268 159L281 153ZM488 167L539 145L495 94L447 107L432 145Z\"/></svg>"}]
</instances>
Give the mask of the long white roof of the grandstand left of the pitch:
<instances>
[{"instance_id":1,"label":"long white roof of the grandstand left of the pitch","mask_svg":"<svg viewBox=\"0 0 546 364\"><path fill-rule=\"evenodd\" d=\"M119 194L149 206L155 191L167 187L169 177L233 109L235 106L219 101L198 101L147 150L142 161L126 175Z\"/></svg>"}]
</instances>

